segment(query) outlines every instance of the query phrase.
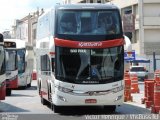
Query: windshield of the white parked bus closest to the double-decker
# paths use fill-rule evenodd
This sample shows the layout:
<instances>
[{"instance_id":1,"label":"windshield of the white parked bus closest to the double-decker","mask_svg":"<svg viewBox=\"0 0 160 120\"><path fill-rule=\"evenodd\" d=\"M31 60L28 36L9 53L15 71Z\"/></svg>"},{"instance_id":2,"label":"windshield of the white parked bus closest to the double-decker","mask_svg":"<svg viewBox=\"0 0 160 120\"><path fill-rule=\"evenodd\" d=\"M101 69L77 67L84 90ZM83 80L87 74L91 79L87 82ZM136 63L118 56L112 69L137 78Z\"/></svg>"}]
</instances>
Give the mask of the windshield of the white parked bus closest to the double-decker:
<instances>
[{"instance_id":1,"label":"windshield of the white parked bus closest to the double-decker","mask_svg":"<svg viewBox=\"0 0 160 120\"><path fill-rule=\"evenodd\" d=\"M19 56L18 60L18 73L25 72L25 49L17 50L17 55Z\"/></svg>"}]
</instances>

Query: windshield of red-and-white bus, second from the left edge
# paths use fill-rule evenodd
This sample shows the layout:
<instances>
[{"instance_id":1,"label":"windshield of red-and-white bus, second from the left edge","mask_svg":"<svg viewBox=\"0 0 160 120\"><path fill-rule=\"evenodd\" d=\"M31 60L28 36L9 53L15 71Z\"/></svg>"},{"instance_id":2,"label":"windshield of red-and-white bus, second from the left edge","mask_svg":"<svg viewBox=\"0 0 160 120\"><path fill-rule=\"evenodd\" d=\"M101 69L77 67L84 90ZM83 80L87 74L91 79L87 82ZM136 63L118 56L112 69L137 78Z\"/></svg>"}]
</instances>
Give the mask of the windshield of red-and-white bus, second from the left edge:
<instances>
[{"instance_id":1,"label":"windshield of red-and-white bus, second from the left edge","mask_svg":"<svg viewBox=\"0 0 160 120\"><path fill-rule=\"evenodd\" d=\"M8 52L9 58L6 61L6 71L14 71L16 70L16 60L17 55L15 50L6 50Z\"/></svg>"}]
</instances>

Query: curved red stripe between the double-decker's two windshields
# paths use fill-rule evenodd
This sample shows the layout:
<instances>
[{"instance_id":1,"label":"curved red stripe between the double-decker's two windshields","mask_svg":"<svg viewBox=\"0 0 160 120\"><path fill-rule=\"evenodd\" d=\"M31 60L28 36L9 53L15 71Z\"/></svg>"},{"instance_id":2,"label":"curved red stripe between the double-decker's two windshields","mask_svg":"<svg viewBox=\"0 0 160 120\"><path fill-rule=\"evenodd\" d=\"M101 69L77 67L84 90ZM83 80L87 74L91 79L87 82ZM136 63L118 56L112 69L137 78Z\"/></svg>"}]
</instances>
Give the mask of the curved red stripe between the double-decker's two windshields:
<instances>
[{"instance_id":1,"label":"curved red stripe between the double-decker's two windshields","mask_svg":"<svg viewBox=\"0 0 160 120\"><path fill-rule=\"evenodd\" d=\"M72 41L72 40L64 40L55 38L55 45L61 47L70 47L70 48L108 48L124 45L124 39L114 39L114 40L106 40L106 41L91 41L91 42L83 42L83 41Z\"/></svg>"}]
</instances>

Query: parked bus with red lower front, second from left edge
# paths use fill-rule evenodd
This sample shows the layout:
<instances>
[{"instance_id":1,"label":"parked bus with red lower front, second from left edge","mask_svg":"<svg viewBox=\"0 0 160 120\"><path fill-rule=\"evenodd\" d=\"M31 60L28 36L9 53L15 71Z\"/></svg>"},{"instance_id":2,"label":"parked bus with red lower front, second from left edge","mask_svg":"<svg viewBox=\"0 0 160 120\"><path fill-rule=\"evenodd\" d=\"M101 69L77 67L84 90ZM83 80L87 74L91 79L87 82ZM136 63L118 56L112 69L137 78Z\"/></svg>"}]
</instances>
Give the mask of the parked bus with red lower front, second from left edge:
<instances>
[{"instance_id":1,"label":"parked bus with red lower front, second from left edge","mask_svg":"<svg viewBox=\"0 0 160 120\"><path fill-rule=\"evenodd\" d=\"M12 39L4 39L4 47L6 54L8 54L8 60L6 60L6 95L10 96L12 89L18 87L16 43Z\"/></svg>"}]
</instances>

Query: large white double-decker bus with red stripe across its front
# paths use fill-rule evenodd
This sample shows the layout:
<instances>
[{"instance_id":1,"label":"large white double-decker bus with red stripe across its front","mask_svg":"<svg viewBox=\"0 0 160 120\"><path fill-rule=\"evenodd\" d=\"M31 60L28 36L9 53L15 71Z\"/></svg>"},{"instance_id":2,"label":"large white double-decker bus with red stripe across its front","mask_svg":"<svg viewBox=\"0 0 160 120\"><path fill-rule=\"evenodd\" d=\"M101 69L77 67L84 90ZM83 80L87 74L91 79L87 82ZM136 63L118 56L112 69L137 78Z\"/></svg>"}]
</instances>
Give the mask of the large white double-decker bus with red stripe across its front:
<instances>
[{"instance_id":1,"label":"large white double-decker bus with red stripe across its front","mask_svg":"<svg viewBox=\"0 0 160 120\"><path fill-rule=\"evenodd\" d=\"M42 104L123 104L124 37L111 4L56 5L38 19L36 70Z\"/></svg>"}]
</instances>

